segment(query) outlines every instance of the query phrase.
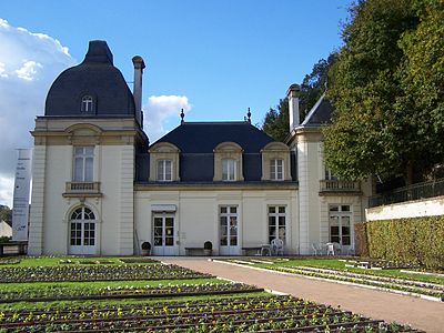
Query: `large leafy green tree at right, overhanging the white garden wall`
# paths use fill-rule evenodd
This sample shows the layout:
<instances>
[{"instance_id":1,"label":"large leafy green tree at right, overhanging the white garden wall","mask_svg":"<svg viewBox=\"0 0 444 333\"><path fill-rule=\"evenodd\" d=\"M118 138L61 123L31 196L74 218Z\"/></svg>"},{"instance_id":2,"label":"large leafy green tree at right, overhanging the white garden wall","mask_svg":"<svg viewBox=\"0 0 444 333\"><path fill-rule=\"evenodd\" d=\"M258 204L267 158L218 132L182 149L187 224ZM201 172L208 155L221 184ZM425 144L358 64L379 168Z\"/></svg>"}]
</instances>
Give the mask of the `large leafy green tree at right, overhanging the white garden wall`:
<instances>
[{"instance_id":1,"label":"large leafy green tree at right, overhanging the white garden wall","mask_svg":"<svg viewBox=\"0 0 444 333\"><path fill-rule=\"evenodd\" d=\"M411 180L443 158L443 3L364 0L350 13L329 72L326 163L344 178Z\"/></svg>"}]
</instances>

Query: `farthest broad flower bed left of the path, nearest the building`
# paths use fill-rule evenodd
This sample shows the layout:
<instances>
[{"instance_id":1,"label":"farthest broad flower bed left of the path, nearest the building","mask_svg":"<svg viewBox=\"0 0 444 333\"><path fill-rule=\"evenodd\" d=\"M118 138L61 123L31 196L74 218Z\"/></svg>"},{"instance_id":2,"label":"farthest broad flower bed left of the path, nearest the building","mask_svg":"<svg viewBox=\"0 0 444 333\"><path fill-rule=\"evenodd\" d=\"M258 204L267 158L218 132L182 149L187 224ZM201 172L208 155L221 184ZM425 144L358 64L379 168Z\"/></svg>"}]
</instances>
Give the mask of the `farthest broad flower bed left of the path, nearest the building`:
<instances>
[{"instance_id":1,"label":"farthest broad flower bed left of the path, nearest the building","mask_svg":"<svg viewBox=\"0 0 444 333\"><path fill-rule=\"evenodd\" d=\"M0 282L58 282L58 281L122 281L205 279L199 273L178 265L61 265L0 268Z\"/></svg>"}]
</instances>

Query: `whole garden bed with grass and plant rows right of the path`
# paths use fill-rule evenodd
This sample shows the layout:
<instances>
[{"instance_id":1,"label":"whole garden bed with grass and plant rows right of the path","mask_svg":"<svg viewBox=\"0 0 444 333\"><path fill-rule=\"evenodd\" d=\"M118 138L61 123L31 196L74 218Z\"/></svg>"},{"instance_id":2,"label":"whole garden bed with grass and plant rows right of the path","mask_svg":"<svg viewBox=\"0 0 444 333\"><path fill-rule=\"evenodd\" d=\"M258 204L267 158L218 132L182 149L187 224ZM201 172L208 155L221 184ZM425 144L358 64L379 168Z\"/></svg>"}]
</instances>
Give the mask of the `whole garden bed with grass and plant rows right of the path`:
<instances>
[{"instance_id":1,"label":"whole garden bed with grass and plant rows right of the path","mask_svg":"<svg viewBox=\"0 0 444 333\"><path fill-rule=\"evenodd\" d=\"M436 276L413 276L401 269L370 271L347 266L345 260L332 259L230 259L228 262L309 278L354 283L370 287L444 301L444 279ZM329 261L330 264L329 264ZM408 279L411 278L411 279Z\"/></svg>"}]
</instances>

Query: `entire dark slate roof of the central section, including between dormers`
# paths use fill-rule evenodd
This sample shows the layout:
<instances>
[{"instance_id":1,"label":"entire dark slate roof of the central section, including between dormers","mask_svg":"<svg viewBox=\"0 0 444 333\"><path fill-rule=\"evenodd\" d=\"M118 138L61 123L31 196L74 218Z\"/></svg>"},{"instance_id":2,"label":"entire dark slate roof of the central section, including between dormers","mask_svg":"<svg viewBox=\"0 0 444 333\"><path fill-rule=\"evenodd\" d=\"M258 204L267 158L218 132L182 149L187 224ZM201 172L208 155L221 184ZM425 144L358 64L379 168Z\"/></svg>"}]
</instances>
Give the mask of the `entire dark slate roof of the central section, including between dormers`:
<instances>
[{"instance_id":1,"label":"entire dark slate roof of the central section, including between dormers","mask_svg":"<svg viewBox=\"0 0 444 333\"><path fill-rule=\"evenodd\" d=\"M261 150L273 141L273 138L245 121L184 122L152 145L169 142L179 148L181 183L209 183L214 176L214 148L222 142L235 142L243 149L244 181L260 182L262 178ZM137 155L137 182L148 182L149 161L149 154ZM292 179L296 180L293 152L291 164Z\"/></svg>"}]
</instances>

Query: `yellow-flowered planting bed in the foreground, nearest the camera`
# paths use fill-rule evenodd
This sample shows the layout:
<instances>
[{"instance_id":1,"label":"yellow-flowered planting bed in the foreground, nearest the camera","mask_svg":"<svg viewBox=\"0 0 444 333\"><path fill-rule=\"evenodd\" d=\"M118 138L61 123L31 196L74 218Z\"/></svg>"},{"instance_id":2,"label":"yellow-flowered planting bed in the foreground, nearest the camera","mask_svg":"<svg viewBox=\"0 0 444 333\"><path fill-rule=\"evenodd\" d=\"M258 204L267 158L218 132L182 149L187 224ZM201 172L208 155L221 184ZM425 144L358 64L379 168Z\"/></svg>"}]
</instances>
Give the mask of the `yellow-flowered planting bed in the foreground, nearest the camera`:
<instances>
[{"instance_id":1,"label":"yellow-flowered planting bed in the foreground, nearest the camera","mask_svg":"<svg viewBox=\"0 0 444 333\"><path fill-rule=\"evenodd\" d=\"M351 312L290 296L158 303L135 309L74 309L49 313L0 313L0 332L413 332Z\"/></svg>"}]
</instances>

